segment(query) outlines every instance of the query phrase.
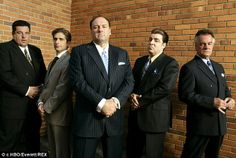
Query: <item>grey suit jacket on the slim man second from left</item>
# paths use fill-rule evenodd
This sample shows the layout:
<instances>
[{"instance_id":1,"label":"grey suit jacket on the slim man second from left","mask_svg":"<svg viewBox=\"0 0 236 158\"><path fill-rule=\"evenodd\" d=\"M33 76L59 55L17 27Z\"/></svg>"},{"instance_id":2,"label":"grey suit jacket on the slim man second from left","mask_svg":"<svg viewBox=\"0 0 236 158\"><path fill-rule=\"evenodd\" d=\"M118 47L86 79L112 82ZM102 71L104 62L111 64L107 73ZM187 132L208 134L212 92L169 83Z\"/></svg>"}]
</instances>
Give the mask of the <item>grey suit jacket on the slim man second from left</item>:
<instances>
[{"instance_id":1,"label":"grey suit jacket on the slim man second from left","mask_svg":"<svg viewBox=\"0 0 236 158\"><path fill-rule=\"evenodd\" d=\"M69 83L70 54L63 54L47 72L38 102L44 103L46 120L50 124L68 126L72 120L72 88ZM49 64L49 69L51 63Z\"/></svg>"}]
</instances>

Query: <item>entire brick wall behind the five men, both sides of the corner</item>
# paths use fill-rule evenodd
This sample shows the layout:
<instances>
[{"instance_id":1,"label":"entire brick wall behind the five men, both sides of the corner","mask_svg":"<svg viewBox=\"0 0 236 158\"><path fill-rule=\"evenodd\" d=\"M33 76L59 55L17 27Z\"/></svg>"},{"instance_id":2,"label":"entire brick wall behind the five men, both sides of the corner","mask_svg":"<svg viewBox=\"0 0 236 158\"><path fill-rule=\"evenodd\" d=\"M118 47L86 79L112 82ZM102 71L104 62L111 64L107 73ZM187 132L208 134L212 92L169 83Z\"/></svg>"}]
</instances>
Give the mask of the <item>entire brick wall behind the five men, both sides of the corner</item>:
<instances>
[{"instance_id":1,"label":"entire brick wall behind the five men, both sides of the corner","mask_svg":"<svg viewBox=\"0 0 236 158\"><path fill-rule=\"evenodd\" d=\"M213 58L224 65L228 84L236 99L236 2L235 0L0 0L0 42L10 40L11 24L17 19L32 24L31 43L42 49L46 65L53 58L51 31L71 29L73 46L90 42L89 20L95 15L111 19L111 43L129 52L132 65L147 54L149 32L154 27L170 35L166 53L180 65L195 54L193 36L198 29L215 32ZM173 92L173 128L165 143L165 157L178 158L185 139L186 107ZM222 158L236 157L236 110L227 113L228 134Z\"/></svg>"}]
</instances>

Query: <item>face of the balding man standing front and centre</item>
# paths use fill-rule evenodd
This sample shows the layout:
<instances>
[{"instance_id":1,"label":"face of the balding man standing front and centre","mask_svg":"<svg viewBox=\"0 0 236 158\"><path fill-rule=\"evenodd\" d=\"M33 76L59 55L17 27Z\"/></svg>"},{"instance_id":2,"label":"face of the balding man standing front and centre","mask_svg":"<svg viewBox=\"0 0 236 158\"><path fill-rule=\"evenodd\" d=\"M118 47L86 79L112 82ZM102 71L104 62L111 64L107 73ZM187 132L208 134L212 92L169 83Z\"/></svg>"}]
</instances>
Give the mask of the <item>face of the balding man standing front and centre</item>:
<instances>
[{"instance_id":1,"label":"face of the balding man standing front and centre","mask_svg":"<svg viewBox=\"0 0 236 158\"><path fill-rule=\"evenodd\" d=\"M103 17L96 18L92 22L91 35L93 41L98 44L109 42L111 29L108 21Z\"/></svg>"}]
</instances>

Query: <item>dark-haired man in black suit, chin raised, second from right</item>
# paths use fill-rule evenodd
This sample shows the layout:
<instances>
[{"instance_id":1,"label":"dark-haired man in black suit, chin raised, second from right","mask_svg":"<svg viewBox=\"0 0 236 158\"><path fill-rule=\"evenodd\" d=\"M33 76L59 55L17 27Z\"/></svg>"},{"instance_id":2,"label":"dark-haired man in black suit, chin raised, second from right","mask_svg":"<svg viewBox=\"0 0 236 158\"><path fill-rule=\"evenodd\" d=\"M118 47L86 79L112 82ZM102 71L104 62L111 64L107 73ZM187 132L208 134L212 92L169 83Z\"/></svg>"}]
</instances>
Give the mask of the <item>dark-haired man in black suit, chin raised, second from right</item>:
<instances>
[{"instance_id":1,"label":"dark-haired man in black suit, chin raised, second from right","mask_svg":"<svg viewBox=\"0 0 236 158\"><path fill-rule=\"evenodd\" d=\"M149 55L138 58L133 68L135 85L130 96L127 157L163 157L165 134L171 126L171 92L176 85L179 66L164 54L168 34L151 31Z\"/></svg>"}]
</instances>

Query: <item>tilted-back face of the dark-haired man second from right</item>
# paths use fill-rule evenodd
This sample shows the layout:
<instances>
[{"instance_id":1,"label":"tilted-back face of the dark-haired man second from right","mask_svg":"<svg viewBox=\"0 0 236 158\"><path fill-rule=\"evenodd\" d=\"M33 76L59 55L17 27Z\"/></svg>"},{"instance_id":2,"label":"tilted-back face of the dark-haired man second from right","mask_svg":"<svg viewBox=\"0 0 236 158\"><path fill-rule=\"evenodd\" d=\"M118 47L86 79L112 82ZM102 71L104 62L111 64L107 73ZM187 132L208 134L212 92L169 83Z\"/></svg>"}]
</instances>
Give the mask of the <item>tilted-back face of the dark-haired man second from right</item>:
<instances>
[{"instance_id":1,"label":"tilted-back face of the dark-haired man second from right","mask_svg":"<svg viewBox=\"0 0 236 158\"><path fill-rule=\"evenodd\" d=\"M161 54L166 47L166 43L163 43L163 36L160 34L151 34L149 37L148 52L151 57Z\"/></svg>"}]
</instances>

